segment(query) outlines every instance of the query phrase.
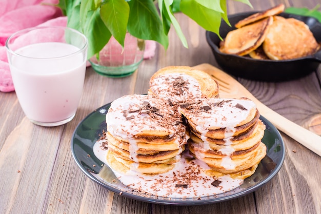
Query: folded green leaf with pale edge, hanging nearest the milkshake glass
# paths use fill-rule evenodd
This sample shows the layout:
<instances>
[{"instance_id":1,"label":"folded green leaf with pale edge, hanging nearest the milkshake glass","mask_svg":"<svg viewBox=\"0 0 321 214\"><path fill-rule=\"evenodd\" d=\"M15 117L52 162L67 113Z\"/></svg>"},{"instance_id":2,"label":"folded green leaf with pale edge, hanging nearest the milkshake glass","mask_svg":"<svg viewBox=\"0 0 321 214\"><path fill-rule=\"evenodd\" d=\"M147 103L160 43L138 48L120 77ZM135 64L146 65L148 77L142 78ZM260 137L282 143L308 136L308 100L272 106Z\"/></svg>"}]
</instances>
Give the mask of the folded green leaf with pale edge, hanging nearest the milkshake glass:
<instances>
[{"instance_id":1,"label":"folded green leaf with pale edge, hanging nearest the milkshake glass","mask_svg":"<svg viewBox=\"0 0 321 214\"><path fill-rule=\"evenodd\" d=\"M108 43L111 33L99 14L99 9L88 11L83 33L88 38L88 59Z\"/></svg>"}]
</instances>

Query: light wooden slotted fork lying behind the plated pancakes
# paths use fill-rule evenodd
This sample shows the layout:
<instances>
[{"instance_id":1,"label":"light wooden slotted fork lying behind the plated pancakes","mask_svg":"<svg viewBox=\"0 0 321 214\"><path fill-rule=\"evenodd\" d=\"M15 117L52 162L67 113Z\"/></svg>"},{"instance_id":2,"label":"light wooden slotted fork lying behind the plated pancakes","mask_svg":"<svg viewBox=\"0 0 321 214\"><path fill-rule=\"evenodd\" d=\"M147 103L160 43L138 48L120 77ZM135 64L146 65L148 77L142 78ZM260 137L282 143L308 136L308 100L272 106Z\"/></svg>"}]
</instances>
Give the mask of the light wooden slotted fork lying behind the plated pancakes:
<instances>
[{"instance_id":1,"label":"light wooden slotted fork lying behind the plated pancakes","mask_svg":"<svg viewBox=\"0 0 321 214\"><path fill-rule=\"evenodd\" d=\"M224 71L210 64L200 64L193 68L206 71L214 77L219 84L219 96L221 98L246 97L251 99L255 102L260 114L269 120L278 130L321 156L321 137L319 135L293 123L258 101L242 84Z\"/></svg>"}]
</instances>

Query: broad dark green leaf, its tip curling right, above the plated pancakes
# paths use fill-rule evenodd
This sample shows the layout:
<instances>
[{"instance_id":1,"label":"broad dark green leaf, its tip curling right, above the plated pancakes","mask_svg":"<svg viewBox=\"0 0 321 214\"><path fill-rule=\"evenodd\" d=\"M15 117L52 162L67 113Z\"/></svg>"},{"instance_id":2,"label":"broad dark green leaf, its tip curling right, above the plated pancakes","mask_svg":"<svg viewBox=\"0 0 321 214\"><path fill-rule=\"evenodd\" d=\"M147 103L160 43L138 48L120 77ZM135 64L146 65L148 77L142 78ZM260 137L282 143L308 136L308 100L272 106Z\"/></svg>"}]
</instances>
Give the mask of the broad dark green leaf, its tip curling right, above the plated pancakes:
<instances>
[{"instance_id":1,"label":"broad dark green leaf, its tip curling right, above the plated pancakes","mask_svg":"<svg viewBox=\"0 0 321 214\"><path fill-rule=\"evenodd\" d=\"M152 0L131 0L127 30L142 40L154 40L168 47L168 37Z\"/></svg>"}]
</instances>

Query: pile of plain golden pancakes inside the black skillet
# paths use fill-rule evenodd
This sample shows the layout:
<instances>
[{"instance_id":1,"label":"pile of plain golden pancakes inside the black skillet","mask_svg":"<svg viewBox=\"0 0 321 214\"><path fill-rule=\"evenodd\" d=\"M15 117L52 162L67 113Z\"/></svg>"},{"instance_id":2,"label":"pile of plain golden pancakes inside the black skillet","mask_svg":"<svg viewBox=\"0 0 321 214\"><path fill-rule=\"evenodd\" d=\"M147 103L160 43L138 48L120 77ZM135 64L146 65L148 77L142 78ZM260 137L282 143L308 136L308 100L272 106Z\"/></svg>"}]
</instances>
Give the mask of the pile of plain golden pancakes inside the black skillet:
<instances>
[{"instance_id":1,"label":"pile of plain golden pancakes inside the black skillet","mask_svg":"<svg viewBox=\"0 0 321 214\"><path fill-rule=\"evenodd\" d=\"M220 51L258 60L290 60L314 54L320 45L309 27L294 18L278 16L283 4L254 13L235 24Z\"/></svg>"}]
</instances>

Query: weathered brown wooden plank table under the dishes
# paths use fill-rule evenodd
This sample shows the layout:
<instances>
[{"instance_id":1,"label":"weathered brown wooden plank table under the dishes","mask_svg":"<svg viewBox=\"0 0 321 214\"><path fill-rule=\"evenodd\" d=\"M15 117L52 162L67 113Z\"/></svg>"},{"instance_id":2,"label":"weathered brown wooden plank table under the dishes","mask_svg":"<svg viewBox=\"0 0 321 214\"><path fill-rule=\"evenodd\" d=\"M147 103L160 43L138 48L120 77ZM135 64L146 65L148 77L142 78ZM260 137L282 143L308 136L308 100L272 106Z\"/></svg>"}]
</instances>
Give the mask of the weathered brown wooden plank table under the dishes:
<instances>
[{"instance_id":1,"label":"weathered brown wooden plank table under the dishes","mask_svg":"<svg viewBox=\"0 0 321 214\"><path fill-rule=\"evenodd\" d=\"M251 2L254 10L279 3L311 9L318 0ZM228 1L228 8L230 14L252 10L234 1ZM167 52L157 45L155 56L129 77L110 79L88 68L79 109L66 125L36 126L25 117L14 92L0 93L0 213L321 213L321 157L284 133L286 157L278 174L255 192L222 203L169 206L139 202L108 191L79 170L70 143L86 115L122 95L146 93L151 75L159 68L216 65L205 30L183 14L176 17L189 49L171 29ZM320 74L321 67L289 82L238 81L279 114L321 135Z\"/></svg>"}]
</instances>

